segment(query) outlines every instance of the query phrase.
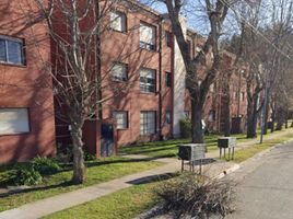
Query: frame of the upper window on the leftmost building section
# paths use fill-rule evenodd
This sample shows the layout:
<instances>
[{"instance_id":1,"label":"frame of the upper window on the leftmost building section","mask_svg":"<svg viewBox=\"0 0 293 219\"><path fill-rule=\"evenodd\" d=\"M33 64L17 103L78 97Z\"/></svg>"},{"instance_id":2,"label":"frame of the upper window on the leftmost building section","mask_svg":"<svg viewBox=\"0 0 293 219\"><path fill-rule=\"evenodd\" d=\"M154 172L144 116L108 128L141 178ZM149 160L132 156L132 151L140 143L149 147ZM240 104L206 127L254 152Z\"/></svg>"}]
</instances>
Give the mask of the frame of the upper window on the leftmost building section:
<instances>
[{"instance_id":1,"label":"frame of the upper window on the leftmost building section","mask_svg":"<svg viewBox=\"0 0 293 219\"><path fill-rule=\"evenodd\" d=\"M25 66L23 39L11 37L11 36L4 36L4 35L0 35L0 39L2 39L4 42L4 46L5 46L5 48L4 48L5 60L0 60L0 64L11 64L11 65L17 65L17 66ZM20 61L17 61L17 62L10 60L9 42L20 44L21 50L20 50L20 57L17 57L20 59Z\"/></svg>"}]
</instances>

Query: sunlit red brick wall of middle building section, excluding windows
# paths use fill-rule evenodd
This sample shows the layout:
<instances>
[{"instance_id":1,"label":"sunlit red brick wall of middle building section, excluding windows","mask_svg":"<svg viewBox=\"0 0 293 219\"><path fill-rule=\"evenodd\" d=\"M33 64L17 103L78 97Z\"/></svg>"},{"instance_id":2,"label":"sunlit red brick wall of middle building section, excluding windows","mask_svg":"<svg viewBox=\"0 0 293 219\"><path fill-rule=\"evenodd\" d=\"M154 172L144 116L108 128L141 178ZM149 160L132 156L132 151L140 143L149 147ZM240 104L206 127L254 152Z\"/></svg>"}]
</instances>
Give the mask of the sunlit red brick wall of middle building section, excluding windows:
<instances>
[{"instance_id":1,"label":"sunlit red brick wall of middle building section, excluding windows","mask_svg":"<svg viewBox=\"0 0 293 219\"><path fill-rule=\"evenodd\" d=\"M140 112L156 112L156 129L159 130L159 83L160 73L162 84L162 135L169 137L172 134L171 125L165 123L166 111L172 111L172 89L165 85L166 72L173 72L172 69L172 48L167 47L165 38L162 39L162 68L160 69L160 20L157 16L149 13L140 13L139 11L128 11L127 15L127 33L115 31L106 32L102 37L102 72L109 74L113 61L120 61L128 65L129 81L125 92L103 104L103 118L110 118L113 111L128 111L129 127L118 131L118 145L129 145L140 140L154 140L157 135L141 136L140 135ZM150 51L140 48L140 21L151 24L156 28L156 49ZM165 36L165 30L169 30L168 24L163 24L162 36ZM140 68L145 67L156 71L156 92L140 92ZM113 82L110 77L104 81L108 88L118 88L121 82ZM121 85L122 87L122 85ZM103 96L110 96L110 89L103 91Z\"/></svg>"}]
</instances>

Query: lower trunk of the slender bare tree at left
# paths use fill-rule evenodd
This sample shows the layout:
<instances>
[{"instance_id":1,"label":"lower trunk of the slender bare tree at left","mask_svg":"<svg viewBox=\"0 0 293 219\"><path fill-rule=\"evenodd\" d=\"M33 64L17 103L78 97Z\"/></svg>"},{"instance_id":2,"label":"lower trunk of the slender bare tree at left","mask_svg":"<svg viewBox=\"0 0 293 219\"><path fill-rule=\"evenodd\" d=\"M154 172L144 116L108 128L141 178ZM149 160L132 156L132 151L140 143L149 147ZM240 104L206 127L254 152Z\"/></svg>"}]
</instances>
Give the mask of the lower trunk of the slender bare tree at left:
<instances>
[{"instance_id":1,"label":"lower trunk of the slender bare tree at left","mask_svg":"<svg viewBox=\"0 0 293 219\"><path fill-rule=\"evenodd\" d=\"M72 126L71 139L73 143L73 176L72 182L74 184L82 184L85 178L85 166L83 158L83 142L82 142L82 126Z\"/></svg>"}]
</instances>

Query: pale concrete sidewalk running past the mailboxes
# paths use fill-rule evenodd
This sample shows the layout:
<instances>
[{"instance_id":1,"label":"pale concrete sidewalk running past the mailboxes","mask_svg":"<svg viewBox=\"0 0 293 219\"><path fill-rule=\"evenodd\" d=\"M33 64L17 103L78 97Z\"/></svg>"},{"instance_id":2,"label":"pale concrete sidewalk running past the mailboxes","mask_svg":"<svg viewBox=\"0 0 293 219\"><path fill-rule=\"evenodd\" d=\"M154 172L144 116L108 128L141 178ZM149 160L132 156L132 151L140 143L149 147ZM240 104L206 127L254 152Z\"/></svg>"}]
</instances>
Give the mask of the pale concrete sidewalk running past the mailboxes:
<instances>
[{"instance_id":1,"label":"pale concrete sidewalk running past the mailboxes","mask_svg":"<svg viewBox=\"0 0 293 219\"><path fill-rule=\"evenodd\" d=\"M292 132L292 129L272 134L267 139L273 139L276 137L282 137ZM258 143L258 139L250 140L248 142L243 142L237 145L237 149L239 150L245 147L249 147L251 145ZM60 194L57 196L52 196L46 199L37 200L32 204L23 205L19 208L14 208L11 210L7 210L0 212L0 219L35 219L40 218L73 206L78 206L90 200L96 199L98 197L118 192L120 189L130 187L136 184L140 183L148 183L155 178L165 177L167 174L175 173L180 171L181 162L177 159L150 159L143 155L127 155L128 158L132 159L148 159L148 160L155 160L159 162L164 163L162 166L144 171L141 173L136 173L132 175L127 175L121 178L113 180L109 182L96 184L93 186L89 186L85 188L80 188L70 193ZM207 153L207 158L212 159L219 158L219 151L212 151ZM224 162L224 161L216 161L210 162L203 165L203 174L210 177L223 177L226 173L233 172L239 168L238 164L233 162Z\"/></svg>"}]
</instances>

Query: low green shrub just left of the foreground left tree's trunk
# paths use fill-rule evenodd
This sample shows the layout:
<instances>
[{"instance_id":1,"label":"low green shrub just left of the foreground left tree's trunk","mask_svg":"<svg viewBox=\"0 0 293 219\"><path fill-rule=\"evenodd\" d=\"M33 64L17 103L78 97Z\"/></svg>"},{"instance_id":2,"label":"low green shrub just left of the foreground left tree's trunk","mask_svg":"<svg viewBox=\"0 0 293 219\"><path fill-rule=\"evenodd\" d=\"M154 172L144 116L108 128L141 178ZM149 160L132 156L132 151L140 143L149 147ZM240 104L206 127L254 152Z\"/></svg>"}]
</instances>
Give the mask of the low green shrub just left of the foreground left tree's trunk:
<instances>
[{"instance_id":1,"label":"low green shrub just left of the foreground left tree's trunk","mask_svg":"<svg viewBox=\"0 0 293 219\"><path fill-rule=\"evenodd\" d=\"M45 157L36 157L32 163L42 175L54 174L61 169L56 160Z\"/></svg>"}]
</instances>

